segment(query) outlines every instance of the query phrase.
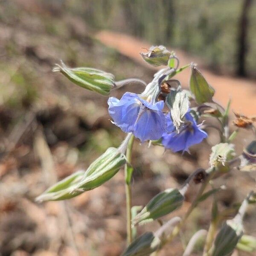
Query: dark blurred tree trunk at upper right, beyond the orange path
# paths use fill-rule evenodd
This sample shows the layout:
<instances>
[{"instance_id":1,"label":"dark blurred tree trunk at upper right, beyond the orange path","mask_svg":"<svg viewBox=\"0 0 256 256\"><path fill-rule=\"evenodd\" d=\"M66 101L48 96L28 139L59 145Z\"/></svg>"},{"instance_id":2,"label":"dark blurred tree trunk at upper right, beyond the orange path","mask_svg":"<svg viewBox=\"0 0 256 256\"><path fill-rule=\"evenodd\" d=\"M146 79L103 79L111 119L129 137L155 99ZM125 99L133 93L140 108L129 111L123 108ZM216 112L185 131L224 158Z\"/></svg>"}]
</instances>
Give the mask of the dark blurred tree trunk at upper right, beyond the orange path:
<instances>
[{"instance_id":1,"label":"dark blurred tree trunk at upper right, beyond the orange path","mask_svg":"<svg viewBox=\"0 0 256 256\"><path fill-rule=\"evenodd\" d=\"M239 22L238 36L238 55L237 55L237 75L246 76L245 61L247 52L247 31L248 31L248 12L252 4L252 0L244 0L242 12Z\"/></svg>"}]
</instances>

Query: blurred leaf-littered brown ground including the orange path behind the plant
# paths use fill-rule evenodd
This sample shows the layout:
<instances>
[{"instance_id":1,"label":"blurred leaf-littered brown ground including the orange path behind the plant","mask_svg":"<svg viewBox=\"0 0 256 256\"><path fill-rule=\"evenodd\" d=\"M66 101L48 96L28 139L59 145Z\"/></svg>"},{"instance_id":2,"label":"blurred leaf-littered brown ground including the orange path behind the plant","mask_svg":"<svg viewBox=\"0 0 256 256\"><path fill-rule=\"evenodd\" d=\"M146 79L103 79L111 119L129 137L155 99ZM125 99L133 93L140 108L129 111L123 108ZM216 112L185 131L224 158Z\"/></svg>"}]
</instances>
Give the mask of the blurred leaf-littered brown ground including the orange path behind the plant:
<instances>
[{"instance_id":1,"label":"blurred leaf-littered brown ground including the orange path behind the plant","mask_svg":"<svg viewBox=\"0 0 256 256\"><path fill-rule=\"evenodd\" d=\"M110 122L106 97L76 87L51 70L62 59L72 67L111 72L116 80L137 77L149 82L155 70L141 62L138 54L140 47L149 44L112 32L94 32L65 9L49 9L32 0L5 2L0 17L0 255L118 256L125 248L123 170L69 201L34 201L56 180L86 169L124 137ZM190 62L185 53L176 52L181 64ZM254 81L202 72L221 103L226 104L232 93L232 109L255 114ZM179 79L186 85L189 74ZM122 88L113 95L120 97L126 90L142 88ZM136 142L133 205L144 205L158 192L181 186L198 167L207 168L210 148L218 140L214 131L208 132L204 143L183 156ZM238 153L252 139L250 131L241 131L236 139ZM219 207L224 209L255 188L255 174L234 169L218 184L227 186L218 195ZM163 220L183 215L197 189L191 187L183 207ZM179 256L196 230L208 228L210 203L211 199L205 201L192 213L181 239L169 244L161 256ZM244 226L245 233L254 236L255 214L255 207L250 208ZM157 228L157 223L148 224L139 227L138 233Z\"/></svg>"}]
</instances>

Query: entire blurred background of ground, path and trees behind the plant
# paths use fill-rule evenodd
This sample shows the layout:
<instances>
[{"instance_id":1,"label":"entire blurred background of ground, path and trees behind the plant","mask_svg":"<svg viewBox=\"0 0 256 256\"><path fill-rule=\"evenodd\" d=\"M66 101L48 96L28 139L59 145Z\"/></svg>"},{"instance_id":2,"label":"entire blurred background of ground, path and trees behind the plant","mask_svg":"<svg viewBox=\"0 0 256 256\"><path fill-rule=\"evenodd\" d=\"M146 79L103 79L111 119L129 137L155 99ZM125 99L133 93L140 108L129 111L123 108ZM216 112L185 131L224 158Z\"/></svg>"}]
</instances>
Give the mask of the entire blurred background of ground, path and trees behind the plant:
<instances>
[{"instance_id":1,"label":"entire blurred background of ground, path and trees behind the plant","mask_svg":"<svg viewBox=\"0 0 256 256\"><path fill-rule=\"evenodd\" d=\"M232 110L256 114L255 0L0 1L0 255L120 255L125 248L123 170L70 201L34 201L124 137L110 122L106 97L51 70L62 59L71 67L111 72L116 81L137 77L149 82L156 69L139 52L152 44L174 49L181 65L197 62L219 102L226 105L231 97ZM187 87L189 71L178 79ZM113 96L142 89L124 87ZM218 142L215 131L207 132L207 140L183 156L135 143L133 204L144 205L158 192L180 186L198 167L207 168L210 148ZM250 131L241 131L238 154L251 140ZM234 169L216 183L222 184L227 190L218 200L225 209L255 188L255 173ZM189 189L175 215L183 215L197 189ZM210 202L193 212L160 256L181 255L196 230L208 229ZM252 208L245 218L245 233L254 236L255 214ZM157 225L139 227L138 233Z\"/></svg>"}]
</instances>

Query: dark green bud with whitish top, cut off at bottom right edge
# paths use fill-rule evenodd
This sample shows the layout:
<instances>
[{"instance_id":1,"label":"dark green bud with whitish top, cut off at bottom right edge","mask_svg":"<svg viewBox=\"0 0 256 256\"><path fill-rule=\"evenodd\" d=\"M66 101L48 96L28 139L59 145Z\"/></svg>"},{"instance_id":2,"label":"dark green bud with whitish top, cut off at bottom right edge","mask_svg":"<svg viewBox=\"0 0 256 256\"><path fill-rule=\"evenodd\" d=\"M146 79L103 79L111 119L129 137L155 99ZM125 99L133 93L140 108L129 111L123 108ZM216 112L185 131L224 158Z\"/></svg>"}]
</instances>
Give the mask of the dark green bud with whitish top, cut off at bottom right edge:
<instances>
[{"instance_id":1,"label":"dark green bud with whitish top, cut off at bottom right edge","mask_svg":"<svg viewBox=\"0 0 256 256\"><path fill-rule=\"evenodd\" d=\"M226 221L215 239L212 256L230 255L242 235L243 226L241 223L234 220Z\"/></svg>"}]
</instances>

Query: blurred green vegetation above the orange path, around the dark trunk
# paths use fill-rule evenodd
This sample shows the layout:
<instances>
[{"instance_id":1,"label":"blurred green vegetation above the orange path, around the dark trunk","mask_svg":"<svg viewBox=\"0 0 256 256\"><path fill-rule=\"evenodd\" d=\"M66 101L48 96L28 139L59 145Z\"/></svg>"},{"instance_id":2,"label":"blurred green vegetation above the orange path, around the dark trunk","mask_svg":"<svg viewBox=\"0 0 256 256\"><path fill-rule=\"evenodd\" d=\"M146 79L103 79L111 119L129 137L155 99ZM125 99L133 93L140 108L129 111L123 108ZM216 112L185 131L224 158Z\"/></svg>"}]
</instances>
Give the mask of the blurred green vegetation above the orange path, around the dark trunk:
<instances>
[{"instance_id":1,"label":"blurred green vegetation above the orange path, around the dark trunk","mask_svg":"<svg viewBox=\"0 0 256 256\"><path fill-rule=\"evenodd\" d=\"M248 9L245 71L255 76L256 2ZM236 74L243 0L87 0L67 1L96 29L125 32L152 44L201 56L212 70Z\"/></svg>"}]
</instances>

